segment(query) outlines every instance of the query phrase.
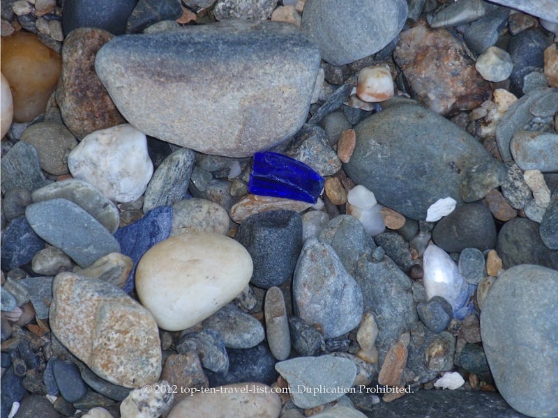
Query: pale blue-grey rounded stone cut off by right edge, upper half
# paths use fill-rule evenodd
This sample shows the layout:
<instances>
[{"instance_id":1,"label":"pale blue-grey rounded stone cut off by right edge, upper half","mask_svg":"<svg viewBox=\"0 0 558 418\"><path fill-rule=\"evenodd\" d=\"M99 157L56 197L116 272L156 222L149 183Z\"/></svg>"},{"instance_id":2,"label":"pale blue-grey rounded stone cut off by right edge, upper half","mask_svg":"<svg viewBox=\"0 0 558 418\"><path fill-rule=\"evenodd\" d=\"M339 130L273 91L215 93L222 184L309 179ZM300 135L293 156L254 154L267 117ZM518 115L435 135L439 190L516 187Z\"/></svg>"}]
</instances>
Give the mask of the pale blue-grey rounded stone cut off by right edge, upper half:
<instances>
[{"instance_id":1,"label":"pale blue-grey rounded stone cut off by right edge, upper half","mask_svg":"<svg viewBox=\"0 0 558 418\"><path fill-rule=\"evenodd\" d=\"M511 139L510 149L522 170L558 171L558 134L518 131Z\"/></svg>"}]
</instances>

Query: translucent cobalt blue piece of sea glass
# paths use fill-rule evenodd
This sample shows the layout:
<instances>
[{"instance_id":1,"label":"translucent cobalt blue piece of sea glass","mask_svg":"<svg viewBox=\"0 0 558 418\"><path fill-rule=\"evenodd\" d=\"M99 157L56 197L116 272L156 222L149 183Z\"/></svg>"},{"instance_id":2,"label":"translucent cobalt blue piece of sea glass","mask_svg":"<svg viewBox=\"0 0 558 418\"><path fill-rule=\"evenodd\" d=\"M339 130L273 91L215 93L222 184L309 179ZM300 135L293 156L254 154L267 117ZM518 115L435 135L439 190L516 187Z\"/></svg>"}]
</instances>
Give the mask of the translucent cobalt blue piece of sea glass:
<instances>
[{"instance_id":1,"label":"translucent cobalt blue piece of sea glass","mask_svg":"<svg viewBox=\"0 0 558 418\"><path fill-rule=\"evenodd\" d=\"M324 178L308 165L279 153L255 153L248 190L260 196L316 203Z\"/></svg>"}]
</instances>

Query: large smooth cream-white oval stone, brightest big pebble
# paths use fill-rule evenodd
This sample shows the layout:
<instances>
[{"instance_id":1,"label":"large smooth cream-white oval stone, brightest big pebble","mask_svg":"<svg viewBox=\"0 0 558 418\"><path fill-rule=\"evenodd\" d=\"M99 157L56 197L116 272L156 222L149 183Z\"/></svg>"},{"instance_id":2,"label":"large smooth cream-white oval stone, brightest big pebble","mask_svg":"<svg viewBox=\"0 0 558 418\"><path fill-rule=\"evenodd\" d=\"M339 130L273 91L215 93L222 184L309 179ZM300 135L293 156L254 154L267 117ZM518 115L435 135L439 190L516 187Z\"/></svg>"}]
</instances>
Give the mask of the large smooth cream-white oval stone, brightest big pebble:
<instances>
[{"instance_id":1,"label":"large smooth cream-white oval stone, brightest big pebble","mask_svg":"<svg viewBox=\"0 0 558 418\"><path fill-rule=\"evenodd\" d=\"M135 288L161 328L186 330L238 296L252 270L250 254L232 238L183 233L159 242L142 256Z\"/></svg>"}]
</instances>

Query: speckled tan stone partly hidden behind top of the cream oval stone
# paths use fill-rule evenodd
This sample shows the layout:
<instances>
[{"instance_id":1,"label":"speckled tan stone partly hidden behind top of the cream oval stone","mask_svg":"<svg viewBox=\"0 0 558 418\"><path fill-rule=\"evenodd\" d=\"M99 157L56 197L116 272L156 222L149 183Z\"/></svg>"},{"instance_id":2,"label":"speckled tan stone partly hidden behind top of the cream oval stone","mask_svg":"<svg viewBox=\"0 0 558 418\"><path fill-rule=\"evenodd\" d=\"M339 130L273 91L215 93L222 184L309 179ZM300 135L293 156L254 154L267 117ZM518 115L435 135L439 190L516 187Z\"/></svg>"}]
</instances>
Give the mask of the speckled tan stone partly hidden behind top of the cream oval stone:
<instances>
[{"instance_id":1,"label":"speckled tan stone partly hidden behind top of the cream oval stone","mask_svg":"<svg viewBox=\"0 0 558 418\"><path fill-rule=\"evenodd\" d=\"M225 235L229 231L229 214L220 204L207 199L186 199L172 205L169 236L191 232Z\"/></svg>"}]
</instances>

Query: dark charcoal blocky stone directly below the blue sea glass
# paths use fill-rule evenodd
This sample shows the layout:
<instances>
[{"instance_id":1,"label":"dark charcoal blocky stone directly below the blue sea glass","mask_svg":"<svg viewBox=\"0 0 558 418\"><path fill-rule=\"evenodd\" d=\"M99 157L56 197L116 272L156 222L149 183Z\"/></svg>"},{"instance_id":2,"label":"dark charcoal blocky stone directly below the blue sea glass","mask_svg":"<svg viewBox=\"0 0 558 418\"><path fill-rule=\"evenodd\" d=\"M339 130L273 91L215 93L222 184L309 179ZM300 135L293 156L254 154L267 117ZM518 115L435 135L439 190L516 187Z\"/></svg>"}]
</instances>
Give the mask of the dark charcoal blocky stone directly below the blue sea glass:
<instances>
[{"instance_id":1,"label":"dark charcoal blocky stone directly below the blue sea glass","mask_svg":"<svg viewBox=\"0 0 558 418\"><path fill-rule=\"evenodd\" d=\"M268 289L292 277L302 249L302 219L292 210L270 210L246 218L234 239L250 253L250 283Z\"/></svg>"}]
</instances>

